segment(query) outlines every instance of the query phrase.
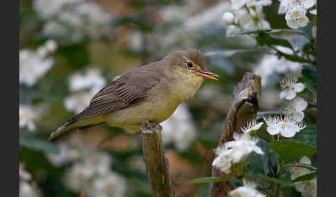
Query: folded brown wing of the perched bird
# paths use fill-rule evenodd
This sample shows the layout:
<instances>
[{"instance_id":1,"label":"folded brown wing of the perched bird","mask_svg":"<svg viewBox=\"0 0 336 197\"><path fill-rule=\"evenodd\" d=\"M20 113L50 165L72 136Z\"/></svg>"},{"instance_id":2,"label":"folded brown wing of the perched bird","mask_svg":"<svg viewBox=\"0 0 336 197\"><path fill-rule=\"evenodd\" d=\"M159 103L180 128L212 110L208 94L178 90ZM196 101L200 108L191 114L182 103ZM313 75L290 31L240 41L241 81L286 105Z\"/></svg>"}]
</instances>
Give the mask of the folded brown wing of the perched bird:
<instances>
[{"instance_id":1,"label":"folded brown wing of the perched bird","mask_svg":"<svg viewBox=\"0 0 336 197\"><path fill-rule=\"evenodd\" d=\"M129 79L127 76L120 76L110 85L104 87L100 92L93 96L88 107L80 114L73 117L69 122L77 121L83 118L99 116L124 107L138 103L148 96L149 90L158 85L159 80L139 79L138 76L134 83L134 78Z\"/></svg>"}]
</instances>

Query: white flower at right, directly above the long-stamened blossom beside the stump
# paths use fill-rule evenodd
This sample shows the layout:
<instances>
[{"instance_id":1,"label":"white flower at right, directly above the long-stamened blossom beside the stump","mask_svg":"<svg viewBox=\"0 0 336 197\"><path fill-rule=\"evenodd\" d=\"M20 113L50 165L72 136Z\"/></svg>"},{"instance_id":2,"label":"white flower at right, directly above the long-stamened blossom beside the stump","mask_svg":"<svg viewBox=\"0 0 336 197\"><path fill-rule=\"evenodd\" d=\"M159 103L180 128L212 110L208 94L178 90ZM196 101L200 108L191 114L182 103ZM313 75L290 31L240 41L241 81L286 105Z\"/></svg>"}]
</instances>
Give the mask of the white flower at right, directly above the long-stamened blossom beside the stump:
<instances>
[{"instance_id":1,"label":"white flower at right, directly above the long-stamened blossom beside the stump","mask_svg":"<svg viewBox=\"0 0 336 197\"><path fill-rule=\"evenodd\" d=\"M291 115L295 121L302 121L304 119L304 110L308 103L304 101L304 98L296 97L284 106L284 112L288 115Z\"/></svg>"}]
</instances>

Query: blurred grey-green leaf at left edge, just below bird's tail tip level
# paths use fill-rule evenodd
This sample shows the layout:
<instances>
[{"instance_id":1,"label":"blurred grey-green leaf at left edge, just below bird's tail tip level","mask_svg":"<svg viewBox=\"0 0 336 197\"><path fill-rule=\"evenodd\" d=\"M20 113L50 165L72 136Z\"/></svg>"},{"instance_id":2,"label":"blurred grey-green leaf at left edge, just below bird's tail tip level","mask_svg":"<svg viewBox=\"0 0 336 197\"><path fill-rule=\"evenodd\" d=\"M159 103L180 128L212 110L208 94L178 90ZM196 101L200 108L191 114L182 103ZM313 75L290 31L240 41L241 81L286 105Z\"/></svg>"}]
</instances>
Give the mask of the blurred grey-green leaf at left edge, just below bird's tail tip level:
<instances>
[{"instance_id":1,"label":"blurred grey-green leaf at left edge, just below bird's tail tip level","mask_svg":"<svg viewBox=\"0 0 336 197\"><path fill-rule=\"evenodd\" d=\"M39 138L36 134L32 134L30 132L19 132L19 144L20 146L38 151L49 152L53 154L57 154L59 152L57 145L43 138Z\"/></svg>"}]
</instances>

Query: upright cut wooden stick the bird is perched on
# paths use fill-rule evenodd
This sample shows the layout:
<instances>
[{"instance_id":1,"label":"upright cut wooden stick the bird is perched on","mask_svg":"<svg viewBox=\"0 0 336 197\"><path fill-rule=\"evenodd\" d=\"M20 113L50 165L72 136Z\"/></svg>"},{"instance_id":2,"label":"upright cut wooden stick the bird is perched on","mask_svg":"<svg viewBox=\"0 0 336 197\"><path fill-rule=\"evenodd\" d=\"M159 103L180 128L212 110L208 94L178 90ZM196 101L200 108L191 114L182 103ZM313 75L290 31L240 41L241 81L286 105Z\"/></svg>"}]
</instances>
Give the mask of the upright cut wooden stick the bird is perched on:
<instances>
[{"instance_id":1,"label":"upright cut wooden stick the bird is perched on","mask_svg":"<svg viewBox=\"0 0 336 197\"><path fill-rule=\"evenodd\" d=\"M157 123L143 121L140 124L140 130L144 163L153 196L176 196L169 178L167 162L162 148L162 127Z\"/></svg>"}]
</instances>

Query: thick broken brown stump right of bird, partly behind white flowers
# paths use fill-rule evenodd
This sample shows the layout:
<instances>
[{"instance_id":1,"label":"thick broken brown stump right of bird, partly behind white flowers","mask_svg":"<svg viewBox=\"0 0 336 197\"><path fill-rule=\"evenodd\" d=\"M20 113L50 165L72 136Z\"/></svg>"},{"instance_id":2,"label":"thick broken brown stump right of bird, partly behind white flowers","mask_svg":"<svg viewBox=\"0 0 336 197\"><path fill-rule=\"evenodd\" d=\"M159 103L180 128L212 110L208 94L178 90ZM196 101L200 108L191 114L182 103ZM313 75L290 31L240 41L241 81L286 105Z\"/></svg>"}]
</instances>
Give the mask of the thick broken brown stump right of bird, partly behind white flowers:
<instances>
[{"instance_id":1,"label":"thick broken brown stump right of bird, partly behind white flowers","mask_svg":"<svg viewBox=\"0 0 336 197\"><path fill-rule=\"evenodd\" d=\"M233 134L235 132L241 133L241 127L245 126L252 118L256 118L256 112L259 110L260 96L261 77L251 72L246 72L241 82L234 87L232 105L227 113L226 126L217 147L221 147L227 141L233 141ZM225 174L216 169L216 167L212 167L212 176L230 178L234 174ZM241 177L234 178L241 179ZM227 196L227 192L232 189L234 187L232 187L229 181L212 183L210 196Z\"/></svg>"}]
</instances>

